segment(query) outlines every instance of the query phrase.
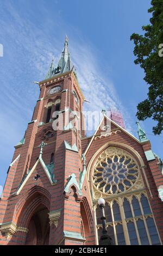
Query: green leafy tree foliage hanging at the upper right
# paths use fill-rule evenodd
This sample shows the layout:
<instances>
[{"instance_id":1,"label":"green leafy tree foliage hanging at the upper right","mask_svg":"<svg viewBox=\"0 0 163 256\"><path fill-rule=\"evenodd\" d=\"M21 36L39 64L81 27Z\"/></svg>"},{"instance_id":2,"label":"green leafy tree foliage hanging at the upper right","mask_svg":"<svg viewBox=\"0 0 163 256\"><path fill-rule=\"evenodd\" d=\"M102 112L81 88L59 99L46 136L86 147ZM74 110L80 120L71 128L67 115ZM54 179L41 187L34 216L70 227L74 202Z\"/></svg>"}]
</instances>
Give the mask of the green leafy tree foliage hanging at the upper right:
<instances>
[{"instance_id":1,"label":"green leafy tree foliage hanging at the upper right","mask_svg":"<svg viewBox=\"0 0 163 256\"><path fill-rule=\"evenodd\" d=\"M148 97L137 105L136 116L139 120L152 117L157 122L153 133L159 135L163 130L163 0L152 0L151 4L150 24L142 26L144 35L134 33L130 40L135 44L134 62L144 69L149 85Z\"/></svg>"}]
</instances>

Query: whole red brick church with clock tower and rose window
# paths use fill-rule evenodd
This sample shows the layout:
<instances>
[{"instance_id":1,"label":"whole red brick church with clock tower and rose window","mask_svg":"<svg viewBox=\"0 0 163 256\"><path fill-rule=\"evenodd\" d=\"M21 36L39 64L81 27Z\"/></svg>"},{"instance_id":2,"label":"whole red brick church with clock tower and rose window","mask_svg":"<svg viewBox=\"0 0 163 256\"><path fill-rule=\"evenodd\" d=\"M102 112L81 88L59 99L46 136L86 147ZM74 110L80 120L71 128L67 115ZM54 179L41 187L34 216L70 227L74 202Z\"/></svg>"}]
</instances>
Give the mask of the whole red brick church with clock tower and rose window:
<instances>
[{"instance_id":1,"label":"whole red brick church with clock tower and rose window","mask_svg":"<svg viewBox=\"0 0 163 256\"><path fill-rule=\"evenodd\" d=\"M67 37L57 66L52 61L37 86L0 198L0 245L99 245L99 198L113 245L162 245L162 162L139 123L136 138L120 115L103 111L86 136Z\"/></svg>"}]
</instances>

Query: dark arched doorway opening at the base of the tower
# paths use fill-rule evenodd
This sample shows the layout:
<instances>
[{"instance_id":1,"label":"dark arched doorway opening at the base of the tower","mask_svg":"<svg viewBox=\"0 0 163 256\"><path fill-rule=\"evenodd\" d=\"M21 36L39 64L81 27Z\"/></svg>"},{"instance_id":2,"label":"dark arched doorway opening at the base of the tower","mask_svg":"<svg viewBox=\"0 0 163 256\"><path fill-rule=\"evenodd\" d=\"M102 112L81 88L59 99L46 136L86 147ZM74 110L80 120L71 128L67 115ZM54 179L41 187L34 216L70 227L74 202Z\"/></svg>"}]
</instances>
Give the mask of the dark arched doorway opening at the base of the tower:
<instances>
[{"instance_id":1,"label":"dark arched doorway opening at the base of the tower","mask_svg":"<svg viewBox=\"0 0 163 256\"><path fill-rule=\"evenodd\" d=\"M26 245L48 245L50 230L48 212L45 205L37 207L28 224Z\"/></svg>"}]
</instances>

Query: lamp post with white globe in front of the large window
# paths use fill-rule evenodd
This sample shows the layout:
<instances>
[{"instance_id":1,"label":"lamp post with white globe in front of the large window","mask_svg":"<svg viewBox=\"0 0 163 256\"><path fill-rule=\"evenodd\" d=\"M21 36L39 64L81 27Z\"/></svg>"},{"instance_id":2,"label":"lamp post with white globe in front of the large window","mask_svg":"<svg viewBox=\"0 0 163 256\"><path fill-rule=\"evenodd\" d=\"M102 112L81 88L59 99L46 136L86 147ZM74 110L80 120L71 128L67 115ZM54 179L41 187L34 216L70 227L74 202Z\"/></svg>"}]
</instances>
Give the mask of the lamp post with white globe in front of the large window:
<instances>
[{"instance_id":1,"label":"lamp post with white globe in front of the large window","mask_svg":"<svg viewBox=\"0 0 163 256\"><path fill-rule=\"evenodd\" d=\"M106 230L106 217L105 217L105 212L104 212L104 206L105 206L105 200L103 198L98 199L98 205L99 208L102 210L102 225L103 225L103 230L102 230L102 235L99 239L99 245L113 245L111 242L111 237L107 234Z\"/></svg>"}]
</instances>

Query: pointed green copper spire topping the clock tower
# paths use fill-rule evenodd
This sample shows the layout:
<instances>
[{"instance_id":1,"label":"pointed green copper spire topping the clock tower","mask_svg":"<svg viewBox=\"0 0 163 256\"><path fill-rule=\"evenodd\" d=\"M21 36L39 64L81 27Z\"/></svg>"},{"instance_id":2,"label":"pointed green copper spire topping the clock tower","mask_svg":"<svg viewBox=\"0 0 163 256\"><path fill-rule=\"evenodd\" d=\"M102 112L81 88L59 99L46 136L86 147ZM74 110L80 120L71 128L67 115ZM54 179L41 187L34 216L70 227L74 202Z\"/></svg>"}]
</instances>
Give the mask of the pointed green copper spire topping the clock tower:
<instances>
[{"instance_id":1,"label":"pointed green copper spire topping the clock tower","mask_svg":"<svg viewBox=\"0 0 163 256\"><path fill-rule=\"evenodd\" d=\"M58 64L57 64L57 68L54 68L53 60L52 60L52 64L47 72L45 79L48 79L48 78L51 78L51 77L54 77L54 76L57 76L60 74L64 74L65 72L68 72L71 70L73 70L74 75L77 78L76 69L74 68L74 66L71 63L70 53L68 51L68 38L66 35L64 48L61 52L61 56L60 56Z\"/></svg>"}]
</instances>

